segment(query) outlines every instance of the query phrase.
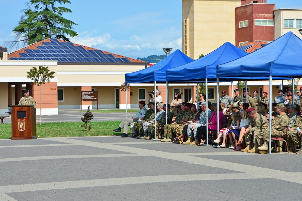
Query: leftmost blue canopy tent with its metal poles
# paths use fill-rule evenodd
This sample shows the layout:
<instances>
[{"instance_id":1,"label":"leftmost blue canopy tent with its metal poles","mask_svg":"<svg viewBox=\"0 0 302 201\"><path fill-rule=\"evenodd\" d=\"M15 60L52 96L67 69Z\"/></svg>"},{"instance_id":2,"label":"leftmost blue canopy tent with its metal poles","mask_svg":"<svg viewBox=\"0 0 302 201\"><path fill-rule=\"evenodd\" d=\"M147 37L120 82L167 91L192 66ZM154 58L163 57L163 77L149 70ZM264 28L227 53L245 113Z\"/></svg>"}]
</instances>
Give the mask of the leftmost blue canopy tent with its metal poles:
<instances>
[{"instance_id":1,"label":"leftmost blue canopy tent with its metal poles","mask_svg":"<svg viewBox=\"0 0 302 201\"><path fill-rule=\"evenodd\" d=\"M156 82L166 83L165 70L174 68L183 64L194 61L180 50L172 52L169 56L159 61L157 64L140 71L125 74L126 86L128 83L154 83L154 91L156 91ZM166 88L168 94L168 88ZM166 96L166 103L168 103L168 95ZM155 102L156 104L156 102ZM126 87L126 117L128 115L128 97ZM156 105L155 105L156 108ZM167 113L167 111L166 111ZM155 110L156 114L156 110ZM156 117L155 117L156 121ZM167 120L166 120L167 121ZM155 139L156 139L156 124L155 124Z\"/></svg>"}]
</instances>

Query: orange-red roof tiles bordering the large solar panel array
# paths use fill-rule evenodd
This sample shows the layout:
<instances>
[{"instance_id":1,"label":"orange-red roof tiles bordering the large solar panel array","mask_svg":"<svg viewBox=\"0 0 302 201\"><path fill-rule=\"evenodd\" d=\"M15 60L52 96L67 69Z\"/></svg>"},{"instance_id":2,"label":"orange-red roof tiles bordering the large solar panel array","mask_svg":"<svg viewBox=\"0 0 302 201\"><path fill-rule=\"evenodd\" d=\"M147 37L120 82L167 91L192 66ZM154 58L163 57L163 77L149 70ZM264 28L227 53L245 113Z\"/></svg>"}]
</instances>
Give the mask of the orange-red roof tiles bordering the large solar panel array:
<instances>
[{"instance_id":1,"label":"orange-red roof tiles bordering the large solar panel array","mask_svg":"<svg viewBox=\"0 0 302 201\"><path fill-rule=\"evenodd\" d=\"M58 39L59 42L67 42L67 41L64 41L64 40L60 40ZM44 39L44 40L41 40L39 42L36 42L36 43L33 43L29 46L26 46L22 49L18 49L16 50L15 52L12 52L10 54L7 55L7 58L8 60L10 60L9 58L10 57L21 57L19 55L19 53L26 53L24 51L24 49L39 49L37 46L43 46L42 42L51 42L51 40L48 38L48 39ZM76 43L72 43L74 46L82 46L84 49L86 50L98 50L98 49L95 49L95 48L92 48L92 47L88 47L88 46L83 46L83 45L79 45L79 44L76 44ZM130 58L130 57L125 57L125 56L122 56L122 55L117 55L117 54L114 54L114 53L111 53L111 52L106 52L106 51L103 51L105 54L112 54L114 55L115 58L128 58L130 60L130 62L134 62L134 63L146 63L146 61L141 61L141 60L138 60L138 59L133 59L133 58Z\"/></svg>"}]
</instances>

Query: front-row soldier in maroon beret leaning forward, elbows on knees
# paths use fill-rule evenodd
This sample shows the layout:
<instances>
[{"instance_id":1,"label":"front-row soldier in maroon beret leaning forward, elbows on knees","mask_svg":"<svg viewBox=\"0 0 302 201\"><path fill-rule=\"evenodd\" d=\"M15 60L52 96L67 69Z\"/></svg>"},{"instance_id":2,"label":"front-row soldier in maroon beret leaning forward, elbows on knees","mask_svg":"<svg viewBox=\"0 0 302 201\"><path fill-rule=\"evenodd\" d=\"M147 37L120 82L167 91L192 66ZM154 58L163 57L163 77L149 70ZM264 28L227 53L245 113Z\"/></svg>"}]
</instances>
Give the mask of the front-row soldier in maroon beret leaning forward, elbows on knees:
<instances>
[{"instance_id":1,"label":"front-row soldier in maroon beret leaning forward, elbows on knees","mask_svg":"<svg viewBox=\"0 0 302 201\"><path fill-rule=\"evenodd\" d=\"M241 149L242 152L258 153L258 147L263 145L263 135L265 130L269 132L269 123L265 116L260 115L255 111L255 108L246 110L249 114L249 127L243 131L245 135L246 148ZM252 141L254 147L252 148Z\"/></svg>"}]
</instances>

